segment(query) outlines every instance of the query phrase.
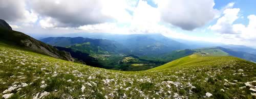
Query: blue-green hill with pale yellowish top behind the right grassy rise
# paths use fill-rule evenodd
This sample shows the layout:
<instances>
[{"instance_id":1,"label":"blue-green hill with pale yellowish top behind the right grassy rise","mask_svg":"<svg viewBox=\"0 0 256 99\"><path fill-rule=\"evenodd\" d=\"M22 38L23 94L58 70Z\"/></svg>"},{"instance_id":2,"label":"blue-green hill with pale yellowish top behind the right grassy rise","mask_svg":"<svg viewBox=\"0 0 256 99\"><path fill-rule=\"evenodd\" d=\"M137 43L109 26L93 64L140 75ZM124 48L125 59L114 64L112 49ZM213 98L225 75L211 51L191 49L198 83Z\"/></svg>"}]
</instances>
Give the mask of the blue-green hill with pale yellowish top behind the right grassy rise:
<instances>
[{"instance_id":1,"label":"blue-green hill with pale yellowish top behind the right grassy rise","mask_svg":"<svg viewBox=\"0 0 256 99\"><path fill-rule=\"evenodd\" d=\"M203 56L233 56L239 57L251 62L256 61L256 56L250 53L233 51L223 47L207 47L207 48L197 48L197 49L186 49L186 50L178 50L170 53L165 53L162 55L156 56L141 56L141 59L146 60L158 60L163 62L170 62L175 59L179 59L181 57L185 57L192 54L200 54Z\"/></svg>"}]
</instances>

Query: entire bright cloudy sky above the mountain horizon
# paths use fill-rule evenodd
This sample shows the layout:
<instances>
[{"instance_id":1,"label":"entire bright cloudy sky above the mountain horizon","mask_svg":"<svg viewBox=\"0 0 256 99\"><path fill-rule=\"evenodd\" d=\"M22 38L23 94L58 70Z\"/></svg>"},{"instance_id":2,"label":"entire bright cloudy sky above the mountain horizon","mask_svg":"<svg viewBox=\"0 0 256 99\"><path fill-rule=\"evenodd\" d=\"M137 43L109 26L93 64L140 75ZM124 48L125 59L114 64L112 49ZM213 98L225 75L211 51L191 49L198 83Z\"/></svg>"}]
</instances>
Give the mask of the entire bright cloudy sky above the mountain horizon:
<instances>
[{"instance_id":1,"label":"entire bright cloudy sky above the mountain horizon","mask_svg":"<svg viewBox=\"0 0 256 99\"><path fill-rule=\"evenodd\" d=\"M256 48L255 0L0 0L0 19L32 36L163 34Z\"/></svg>"}]
</instances>

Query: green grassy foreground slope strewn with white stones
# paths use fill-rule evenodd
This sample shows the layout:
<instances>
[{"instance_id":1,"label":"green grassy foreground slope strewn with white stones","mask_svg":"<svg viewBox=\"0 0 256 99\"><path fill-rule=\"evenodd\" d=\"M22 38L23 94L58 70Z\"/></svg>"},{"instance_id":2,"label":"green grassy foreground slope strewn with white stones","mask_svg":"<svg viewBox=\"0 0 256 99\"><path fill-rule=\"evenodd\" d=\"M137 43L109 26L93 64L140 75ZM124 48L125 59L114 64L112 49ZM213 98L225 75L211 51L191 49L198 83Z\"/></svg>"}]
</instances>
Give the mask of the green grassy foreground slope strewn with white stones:
<instances>
[{"instance_id":1,"label":"green grassy foreground slope strewn with white stones","mask_svg":"<svg viewBox=\"0 0 256 99\"><path fill-rule=\"evenodd\" d=\"M201 57L189 56L189 61L180 60L182 65L160 70L117 71L0 44L0 92L14 84L27 83L29 85L19 91L15 89L12 98L32 98L36 93L44 91L50 92L46 98L79 98L82 95L87 98L203 98L206 92L212 93L211 97L214 98L253 98L249 88L239 87L245 86L245 82L256 80L254 63L233 57L198 59ZM185 65L186 63L189 64ZM238 72L238 69L244 71ZM224 79L236 85L231 85ZM40 88L43 85L41 81L45 81L47 87ZM174 84L167 81L173 81ZM82 86L86 87L83 92ZM2 95L0 93L1 97Z\"/></svg>"}]
</instances>

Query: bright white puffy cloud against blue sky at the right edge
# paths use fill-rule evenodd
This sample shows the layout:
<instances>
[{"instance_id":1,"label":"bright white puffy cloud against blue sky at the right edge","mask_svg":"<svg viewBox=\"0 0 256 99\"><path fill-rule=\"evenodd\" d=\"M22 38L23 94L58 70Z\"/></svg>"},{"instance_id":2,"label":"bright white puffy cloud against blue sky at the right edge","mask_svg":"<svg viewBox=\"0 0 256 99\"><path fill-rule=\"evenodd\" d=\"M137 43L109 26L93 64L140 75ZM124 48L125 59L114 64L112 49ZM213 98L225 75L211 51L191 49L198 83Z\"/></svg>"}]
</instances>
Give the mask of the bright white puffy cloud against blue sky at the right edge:
<instances>
[{"instance_id":1,"label":"bright white puffy cloud against blue sky at the right edge","mask_svg":"<svg viewBox=\"0 0 256 99\"><path fill-rule=\"evenodd\" d=\"M243 44L255 46L256 44L256 15L247 16L249 24L234 24L239 19L239 8L226 9L223 16L217 20L217 23L208 29L217 33L222 41L228 44Z\"/></svg>"}]
</instances>

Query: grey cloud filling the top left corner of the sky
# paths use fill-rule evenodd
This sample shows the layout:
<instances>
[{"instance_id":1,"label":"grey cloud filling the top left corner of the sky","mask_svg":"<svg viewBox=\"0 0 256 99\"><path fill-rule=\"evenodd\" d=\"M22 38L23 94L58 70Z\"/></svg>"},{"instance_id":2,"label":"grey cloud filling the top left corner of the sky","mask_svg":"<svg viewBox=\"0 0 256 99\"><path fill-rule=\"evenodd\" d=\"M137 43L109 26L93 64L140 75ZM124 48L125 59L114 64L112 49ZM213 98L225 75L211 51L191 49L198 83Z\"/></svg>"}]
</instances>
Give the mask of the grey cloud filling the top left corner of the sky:
<instances>
[{"instance_id":1,"label":"grey cloud filling the top left corner of the sky","mask_svg":"<svg viewBox=\"0 0 256 99\"><path fill-rule=\"evenodd\" d=\"M35 22L37 14L25 8L24 0L0 0L0 18L11 22Z\"/></svg>"}]
</instances>

